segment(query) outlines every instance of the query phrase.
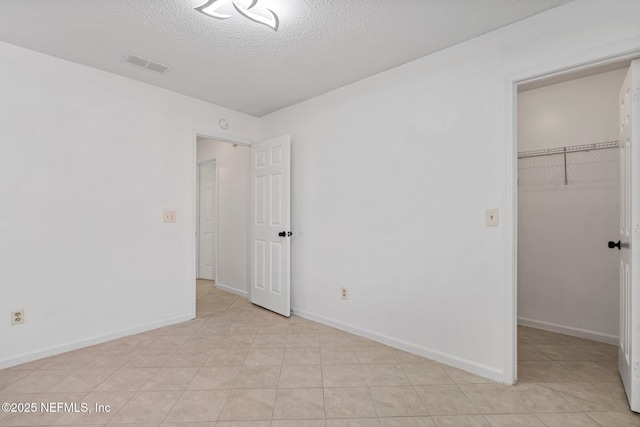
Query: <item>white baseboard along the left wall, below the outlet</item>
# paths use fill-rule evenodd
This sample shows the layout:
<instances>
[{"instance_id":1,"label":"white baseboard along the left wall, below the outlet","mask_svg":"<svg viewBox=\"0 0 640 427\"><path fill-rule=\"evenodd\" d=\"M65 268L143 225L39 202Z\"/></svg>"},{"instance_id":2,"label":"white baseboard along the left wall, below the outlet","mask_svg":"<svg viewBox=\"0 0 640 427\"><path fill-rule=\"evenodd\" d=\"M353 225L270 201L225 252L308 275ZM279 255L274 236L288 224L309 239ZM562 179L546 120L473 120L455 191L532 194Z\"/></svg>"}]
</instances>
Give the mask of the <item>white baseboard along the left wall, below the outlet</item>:
<instances>
[{"instance_id":1,"label":"white baseboard along the left wall, below the outlet","mask_svg":"<svg viewBox=\"0 0 640 427\"><path fill-rule=\"evenodd\" d=\"M191 320L193 318L194 318L193 315L185 314L178 317L172 317L170 319L164 319L158 322L147 323L145 325L137 326L135 328L123 329L118 332L114 332L112 334L106 334L98 337L72 341L62 345L56 345L52 347L43 348L40 350L30 351L28 353L18 354L16 356L11 356L9 358L0 360L0 369L22 365L23 363L33 362L34 360L43 359L49 356L55 356L57 354L66 353L68 351L78 350L80 348L85 348L85 347L100 344L106 341L127 337L129 335L135 335L142 332L152 331L154 329L162 328L164 326L175 325L176 323L186 322L187 320Z\"/></svg>"}]
</instances>

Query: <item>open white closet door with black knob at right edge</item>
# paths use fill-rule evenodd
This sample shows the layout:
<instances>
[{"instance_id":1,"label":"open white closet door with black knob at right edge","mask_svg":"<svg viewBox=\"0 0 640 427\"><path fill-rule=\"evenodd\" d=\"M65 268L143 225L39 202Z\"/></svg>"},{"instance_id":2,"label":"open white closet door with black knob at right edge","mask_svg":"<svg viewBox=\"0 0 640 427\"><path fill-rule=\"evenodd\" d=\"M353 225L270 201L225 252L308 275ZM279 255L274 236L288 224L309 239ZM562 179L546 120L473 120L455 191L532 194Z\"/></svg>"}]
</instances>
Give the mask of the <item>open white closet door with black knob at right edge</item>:
<instances>
[{"instance_id":1,"label":"open white closet door with black knob at right edge","mask_svg":"<svg viewBox=\"0 0 640 427\"><path fill-rule=\"evenodd\" d=\"M620 342L618 368L629 405L640 412L640 60L620 90ZM610 247L612 245L610 244ZM615 246L614 246L615 247ZM634 253L635 252L635 253Z\"/></svg>"}]
</instances>

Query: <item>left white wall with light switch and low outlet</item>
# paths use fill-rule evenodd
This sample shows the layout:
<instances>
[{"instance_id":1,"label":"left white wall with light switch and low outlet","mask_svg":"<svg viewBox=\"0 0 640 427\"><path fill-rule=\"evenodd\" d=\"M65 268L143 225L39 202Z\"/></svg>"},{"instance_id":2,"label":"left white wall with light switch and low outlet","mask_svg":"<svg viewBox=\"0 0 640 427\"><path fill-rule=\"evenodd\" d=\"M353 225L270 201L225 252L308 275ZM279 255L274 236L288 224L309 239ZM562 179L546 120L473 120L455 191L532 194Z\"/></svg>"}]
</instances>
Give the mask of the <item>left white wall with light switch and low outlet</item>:
<instances>
[{"instance_id":1,"label":"left white wall with light switch and low outlet","mask_svg":"<svg viewBox=\"0 0 640 427\"><path fill-rule=\"evenodd\" d=\"M0 63L0 368L193 317L194 129L257 119L5 43Z\"/></svg>"}]
</instances>

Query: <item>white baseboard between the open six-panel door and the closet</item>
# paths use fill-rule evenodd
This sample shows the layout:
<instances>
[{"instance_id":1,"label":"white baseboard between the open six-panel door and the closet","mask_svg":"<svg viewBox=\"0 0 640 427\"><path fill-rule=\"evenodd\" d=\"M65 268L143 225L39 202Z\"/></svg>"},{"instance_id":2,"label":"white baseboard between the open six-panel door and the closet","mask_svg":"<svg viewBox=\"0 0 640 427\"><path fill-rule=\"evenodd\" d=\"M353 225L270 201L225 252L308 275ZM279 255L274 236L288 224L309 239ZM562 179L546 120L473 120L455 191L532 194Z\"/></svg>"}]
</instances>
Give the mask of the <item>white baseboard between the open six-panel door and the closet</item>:
<instances>
[{"instance_id":1,"label":"white baseboard between the open six-panel door and the closet","mask_svg":"<svg viewBox=\"0 0 640 427\"><path fill-rule=\"evenodd\" d=\"M331 320L324 316L320 316L297 308L293 309L293 314L296 316L304 317L305 319L322 323L323 325L331 326L336 329L350 332L354 335L358 335L373 341L380 342L382 344L386 344L391 347L395 347L400 350L404 350L418 356L426 357L427 359L435 360L436 362L440 362L445 365L453 366L454 368L459 368L473 374L480 375L481 377L489 378L498 382L504 382L503 372L498 368L483 365L481 363L473 362L471 360L463 359L441 351L421 347L407 341L399 340L397 338L393 338L383 334L378 334L376 332L349 325L347 323Z\"/></svg>"}]
</instances>

